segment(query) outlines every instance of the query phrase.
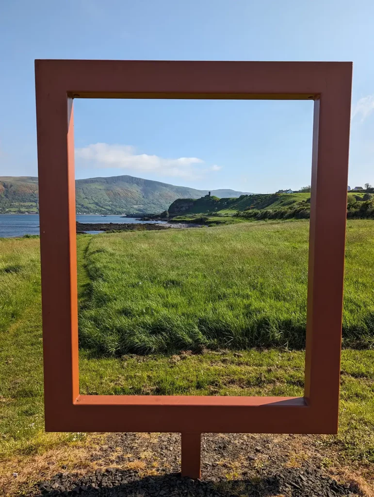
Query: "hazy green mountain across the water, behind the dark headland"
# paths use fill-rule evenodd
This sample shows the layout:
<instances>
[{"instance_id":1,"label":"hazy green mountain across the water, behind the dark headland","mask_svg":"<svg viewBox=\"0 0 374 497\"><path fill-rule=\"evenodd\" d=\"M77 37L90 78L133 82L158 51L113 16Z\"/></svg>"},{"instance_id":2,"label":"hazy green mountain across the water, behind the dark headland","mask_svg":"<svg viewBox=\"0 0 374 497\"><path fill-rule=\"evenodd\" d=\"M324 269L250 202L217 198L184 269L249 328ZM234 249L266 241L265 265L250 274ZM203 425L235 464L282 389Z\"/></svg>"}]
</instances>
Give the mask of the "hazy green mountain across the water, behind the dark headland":
<instances>
[{"instance_id":1,"label":"hazy green mountain across the water, behind the dark headland","mask_svg":"<svg viewBox=\"0 0 374 497\"><path fill-rule=\"evenodd\" d=\"M76 212L88 213L158 213L177 198L198 198L208 190L174 186L134 176L111 176L75 181ZM234 190L212 190L212 195L239 197ZM0 213L38 212L38 178L35 176L0 176Z\"/></svg>"}]
</instances>

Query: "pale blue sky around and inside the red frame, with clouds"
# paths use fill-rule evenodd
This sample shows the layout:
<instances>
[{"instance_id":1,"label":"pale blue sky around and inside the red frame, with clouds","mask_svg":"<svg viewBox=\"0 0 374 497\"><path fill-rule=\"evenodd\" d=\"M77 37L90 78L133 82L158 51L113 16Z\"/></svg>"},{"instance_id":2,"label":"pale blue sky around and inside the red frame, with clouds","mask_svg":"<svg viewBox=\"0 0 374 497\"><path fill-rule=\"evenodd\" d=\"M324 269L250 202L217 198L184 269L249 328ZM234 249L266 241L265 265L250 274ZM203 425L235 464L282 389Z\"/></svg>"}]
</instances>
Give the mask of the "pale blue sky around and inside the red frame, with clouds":
<instances>
[{"instance_id":1,"label":"pale blue sky around and inside the red frame, with clouds","mask_svg":"<svg viewBox=\"0 0 374 497\"><path fill-rule=\"evenodd\" d=\"M374 2L0 5L0 175L37 175L34 59L353 61L349 184L374 183ZM272 192L310 183L312 102L75 100L76 177Z\"/></svg>"}]
</instances>

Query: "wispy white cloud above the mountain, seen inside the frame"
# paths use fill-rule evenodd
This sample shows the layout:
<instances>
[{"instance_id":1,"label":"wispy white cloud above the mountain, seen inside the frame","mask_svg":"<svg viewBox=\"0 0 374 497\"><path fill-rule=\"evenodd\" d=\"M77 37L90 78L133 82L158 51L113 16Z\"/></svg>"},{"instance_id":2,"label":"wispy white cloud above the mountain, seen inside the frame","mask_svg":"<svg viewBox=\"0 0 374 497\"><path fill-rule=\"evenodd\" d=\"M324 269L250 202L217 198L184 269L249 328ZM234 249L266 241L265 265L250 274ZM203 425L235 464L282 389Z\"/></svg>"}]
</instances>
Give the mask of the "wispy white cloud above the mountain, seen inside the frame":
<instances>
[{"instance_id":1,"label":"wispy white cloud above the mountain, seen inside the frame","mask_svg":"<svg viewBox=\"0 0 374 497\"><path fill-rule=\"evenodd\" d=\"M208 171L219 171L222 166L205 166L197 157L165 159L156 155L137 154L130 145L95 143L75 149L75 157L87 165L114 167L134 171L152 172L161 176L175 176L189 179L201 178Z\"/></svg>"}]
</instances>

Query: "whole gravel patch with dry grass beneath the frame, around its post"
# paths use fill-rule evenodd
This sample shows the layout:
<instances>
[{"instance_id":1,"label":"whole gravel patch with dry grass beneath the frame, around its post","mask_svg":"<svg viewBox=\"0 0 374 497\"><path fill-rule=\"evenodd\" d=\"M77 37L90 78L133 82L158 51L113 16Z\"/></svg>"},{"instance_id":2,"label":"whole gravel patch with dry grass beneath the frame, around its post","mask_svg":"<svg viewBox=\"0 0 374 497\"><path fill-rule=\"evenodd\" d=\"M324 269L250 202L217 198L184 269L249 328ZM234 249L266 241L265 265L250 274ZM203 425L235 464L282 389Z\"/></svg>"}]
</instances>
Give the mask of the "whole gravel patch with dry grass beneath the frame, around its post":
<instances>
[{"instance_id":1,"label":"whole gravel patch with dry grass beneath the frame, around its post","mask_svg":"<svg viewBox=\"0 0 374 497\"><path fill-rule=\"evenodd\" d=\"M61 472L23 496L354 496L319 465L299 435L213 434L202 436L202 480L180 476L177 433L113 433L89 455L98 468ZM111 466L111 467L108 467Z\"/></svg>"}]
</instances>

